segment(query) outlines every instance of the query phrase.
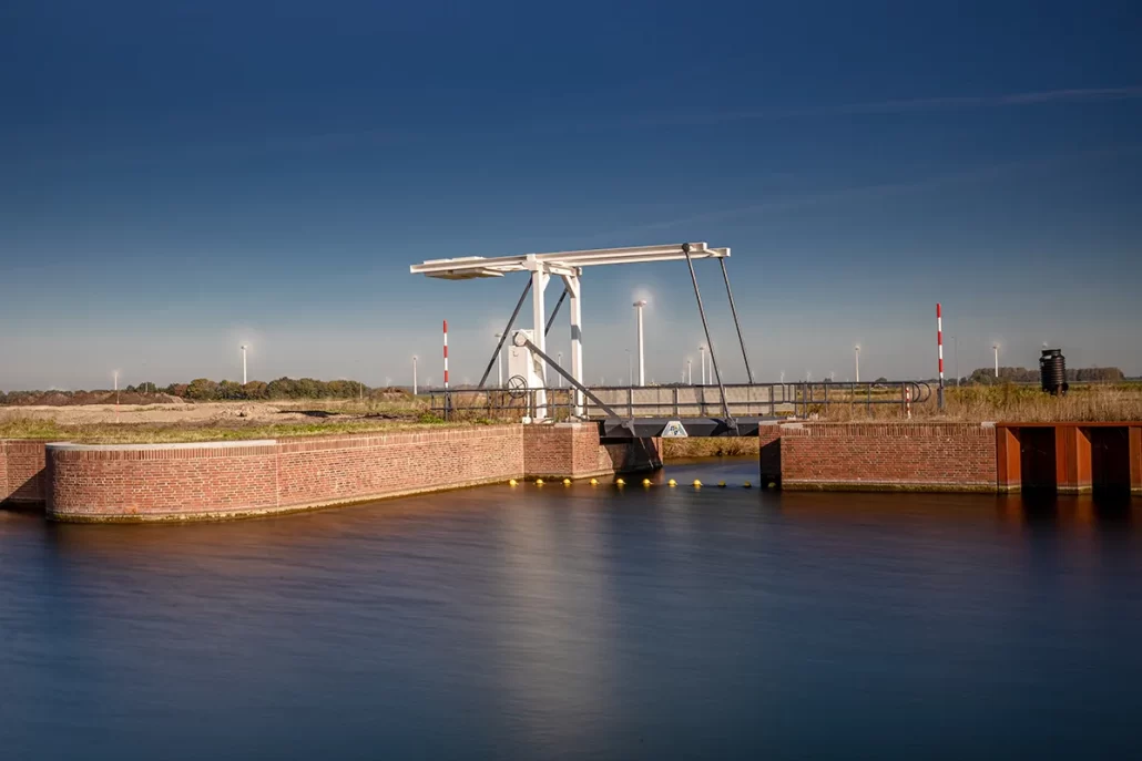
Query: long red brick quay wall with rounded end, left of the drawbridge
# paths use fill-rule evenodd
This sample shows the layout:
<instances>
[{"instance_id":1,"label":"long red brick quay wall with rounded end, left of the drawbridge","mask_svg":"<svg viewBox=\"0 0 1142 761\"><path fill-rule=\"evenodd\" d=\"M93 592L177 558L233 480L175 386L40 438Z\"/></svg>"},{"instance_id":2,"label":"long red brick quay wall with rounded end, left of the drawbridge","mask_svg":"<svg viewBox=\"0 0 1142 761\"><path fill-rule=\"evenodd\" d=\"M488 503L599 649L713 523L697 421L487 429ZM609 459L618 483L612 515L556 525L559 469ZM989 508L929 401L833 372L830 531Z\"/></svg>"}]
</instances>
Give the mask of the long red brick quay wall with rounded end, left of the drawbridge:
<instances>
[{"instance_id":1,"label":"long red brick quay wall with rounded end, left of the drawbridge","mask_svg":"<svg viewBox=\"0 0 1142 761\"><path fill-rule=\"evenodd\" d=\"M498 426L212 444L47 447L57 520L235 518L660 464L656 443L601 445L594 424Z\"/></svg>"}]
</instances>

